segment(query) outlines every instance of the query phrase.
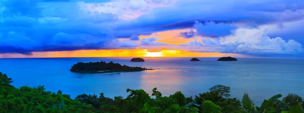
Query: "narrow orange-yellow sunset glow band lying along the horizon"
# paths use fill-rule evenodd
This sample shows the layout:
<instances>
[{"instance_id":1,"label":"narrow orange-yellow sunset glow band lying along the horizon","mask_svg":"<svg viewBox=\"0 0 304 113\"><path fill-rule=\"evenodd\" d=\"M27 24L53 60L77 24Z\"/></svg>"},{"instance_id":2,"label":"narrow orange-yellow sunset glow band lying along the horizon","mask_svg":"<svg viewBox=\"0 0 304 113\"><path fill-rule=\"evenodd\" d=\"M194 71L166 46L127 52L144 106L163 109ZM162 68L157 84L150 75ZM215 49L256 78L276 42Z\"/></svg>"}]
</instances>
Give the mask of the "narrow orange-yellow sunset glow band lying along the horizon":
<instances>
[{"instance_id":1,"label":"narrow orange-yellow sunset glow band lying along the horizon","mask_svg":"<svg viewBox=\"0 0 304 113\"><path fill-rule=\"evenodd\" d=\"M160 51L148 49L114 49L114 50L75 50L33 52L32 55L0 54L0 58L86 58L86 57L254 57L246 54L191 52L186 50L163 49Z\"/></svg>"}]
</instances>

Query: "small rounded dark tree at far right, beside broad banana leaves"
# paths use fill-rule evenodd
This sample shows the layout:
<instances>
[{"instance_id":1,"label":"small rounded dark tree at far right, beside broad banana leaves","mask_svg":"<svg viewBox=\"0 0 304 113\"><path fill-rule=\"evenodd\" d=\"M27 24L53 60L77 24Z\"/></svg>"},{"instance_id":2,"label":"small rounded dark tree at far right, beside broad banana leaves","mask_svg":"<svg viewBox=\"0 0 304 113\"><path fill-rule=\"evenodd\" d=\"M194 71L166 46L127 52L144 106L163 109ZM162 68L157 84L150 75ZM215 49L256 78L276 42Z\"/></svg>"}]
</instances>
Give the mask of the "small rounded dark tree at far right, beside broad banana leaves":
<instances>
[{"instance_id":1,"label":"small rounded dark tree at far right, beside broad banana leaves","mask_svg":"<svg viewBox=\"0 0 304 113\"><path fill-rule=\"evenodd\" d=\"M285 103L287 103L289 106L293 106L293 105L296 105L298 103L301 103L302 106L304 105L303 103L303 98L300 97L299 95L297 94L294 94L294 93L288 93L287 96L285 96L282 101L284 101ZM303 106L304 107L304 106Z\"/></svg>"}]
</instances>

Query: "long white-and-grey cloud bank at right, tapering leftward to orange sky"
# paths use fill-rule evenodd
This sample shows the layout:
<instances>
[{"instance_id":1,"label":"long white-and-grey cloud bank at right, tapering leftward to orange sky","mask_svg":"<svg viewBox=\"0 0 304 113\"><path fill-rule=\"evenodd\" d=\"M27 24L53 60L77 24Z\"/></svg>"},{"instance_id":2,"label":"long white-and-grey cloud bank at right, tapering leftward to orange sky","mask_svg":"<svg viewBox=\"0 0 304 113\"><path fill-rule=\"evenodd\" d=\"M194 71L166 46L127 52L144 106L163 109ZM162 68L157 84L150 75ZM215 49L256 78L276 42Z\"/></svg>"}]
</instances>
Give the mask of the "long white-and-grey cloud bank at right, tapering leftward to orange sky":
<instances>
[{"instance_id":1,"label":"long white-and-grey cloud bank at right, tapering leftward to orange sky","mask_svg":"<svg viewBox=\"0 0 304 113\"><path fill-rule=\"evenodd\" d=\"M196 52L243 53L255 55L298 54L303 53L303 45L295 40L283 40L281 37L271 38L263 29L238 28L231 35L219 38L195 39L187 45L187 49Z\"/></svg>"}]
</instances>

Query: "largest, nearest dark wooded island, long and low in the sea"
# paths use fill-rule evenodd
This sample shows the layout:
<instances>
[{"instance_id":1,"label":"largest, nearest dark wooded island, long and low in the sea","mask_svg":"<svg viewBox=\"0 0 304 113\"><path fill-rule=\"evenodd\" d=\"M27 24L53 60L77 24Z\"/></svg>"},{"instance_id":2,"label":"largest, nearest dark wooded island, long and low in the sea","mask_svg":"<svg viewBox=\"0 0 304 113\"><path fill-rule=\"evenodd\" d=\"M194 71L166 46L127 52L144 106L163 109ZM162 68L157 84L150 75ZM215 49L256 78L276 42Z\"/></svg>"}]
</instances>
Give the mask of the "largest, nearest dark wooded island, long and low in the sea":
<instances>
[{"instance_id":1,"label":"largest, nearest dark wooded island, long and low in the sea","mask_svg":"<svg viewBox=\"0 0 304 113\"><path fill-rule=\"evenodd\" d=\"M118 63L105 63L105 62L95 62L95 63L77 63L74 64L70 71L76 73L105 73L105 72L135 72L135 71L144 71L144 70L153 70L146 69L141 67L129 67L122 66Z\"/></svg>"}]
</instances>

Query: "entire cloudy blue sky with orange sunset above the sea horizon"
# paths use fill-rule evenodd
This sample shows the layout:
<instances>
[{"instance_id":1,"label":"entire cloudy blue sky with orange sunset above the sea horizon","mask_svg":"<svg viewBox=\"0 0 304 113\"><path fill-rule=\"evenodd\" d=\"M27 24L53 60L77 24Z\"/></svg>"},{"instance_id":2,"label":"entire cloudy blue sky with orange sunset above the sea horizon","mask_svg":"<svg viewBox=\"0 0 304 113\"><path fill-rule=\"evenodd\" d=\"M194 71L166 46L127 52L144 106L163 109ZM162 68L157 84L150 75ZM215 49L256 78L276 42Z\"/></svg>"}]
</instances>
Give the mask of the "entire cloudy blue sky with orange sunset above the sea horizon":
<instances>
[{"instance_id":1,"label":"entire cloudy blue sky with orange sunset above the sea horizon","mask_svg":"<svg viewBox=\"0 0 304 113\"><path fill-rule=\"evenodd\" d=\"M302 0L0 0L0 58L304 58Z\"/></svg>"}]
</instances>

